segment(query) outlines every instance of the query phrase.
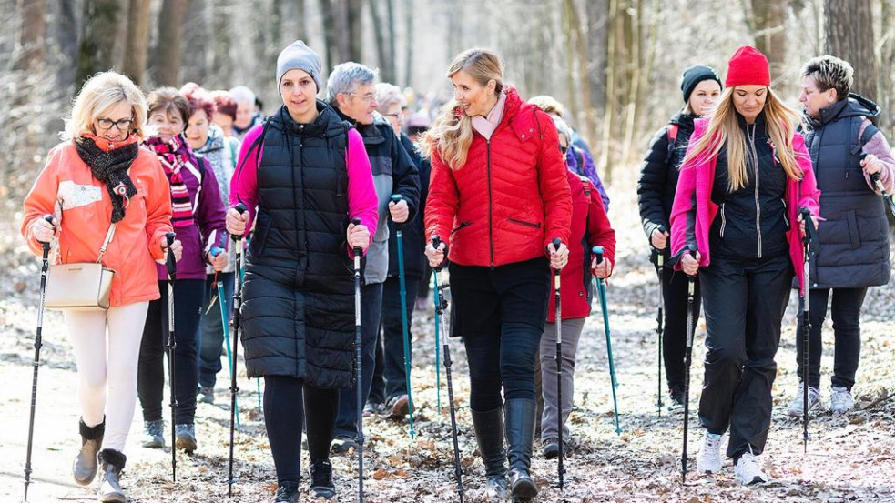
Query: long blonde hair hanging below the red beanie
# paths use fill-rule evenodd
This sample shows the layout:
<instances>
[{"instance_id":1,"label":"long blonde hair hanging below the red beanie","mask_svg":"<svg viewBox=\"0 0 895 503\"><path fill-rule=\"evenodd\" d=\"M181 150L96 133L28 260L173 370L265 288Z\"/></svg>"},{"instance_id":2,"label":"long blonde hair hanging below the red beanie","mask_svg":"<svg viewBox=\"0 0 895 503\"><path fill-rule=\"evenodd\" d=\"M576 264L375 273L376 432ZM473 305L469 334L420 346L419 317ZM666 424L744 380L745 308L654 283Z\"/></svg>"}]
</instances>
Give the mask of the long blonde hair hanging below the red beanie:
<instances>
[{"instance_id":1,"label":"long blonde hair hanging below the red beanie","mask_svg":"<svg viewBox=\"0 0 895 503\"><path fill-rule=\"evenodd\" d=\"M784 105L770 87L763 112L768 136L774 145L775 153L783 165L783 171L794 180L802 178L802 169L798 166L796 152L792 146L798 122L798 113ZM727 145L727 190L737 191L748 184L746 169L746 136L737 124L737 107L734 105L736 86L727 87L718 100L717 109L708 121L706 133L687 148L687 155L681 166L695 161L703 162L715 157L721 148Z\"/></svg>"}]
</instances>

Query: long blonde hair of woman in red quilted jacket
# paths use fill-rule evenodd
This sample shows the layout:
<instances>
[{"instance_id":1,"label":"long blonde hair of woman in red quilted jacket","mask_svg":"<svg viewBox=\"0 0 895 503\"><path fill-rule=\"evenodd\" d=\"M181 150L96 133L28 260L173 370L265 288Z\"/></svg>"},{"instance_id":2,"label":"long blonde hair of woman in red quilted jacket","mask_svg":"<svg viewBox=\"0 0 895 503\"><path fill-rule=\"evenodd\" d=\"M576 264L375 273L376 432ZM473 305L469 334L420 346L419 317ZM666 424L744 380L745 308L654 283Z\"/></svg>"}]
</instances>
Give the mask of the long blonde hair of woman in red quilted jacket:
<instances>
[{"instance_id":1,"label":"long blonde hair of woman in red quilted jacket","mask_svg":"<svg viewBox=\"0 0 895 503\"><path fill-rule=\"evenodd\" d=\"M482 86L487 86L491 80L496 82L495 93L503 90L500 57L488 49L468 49L454 57L447 77L451 78L461 70ZM437 150L451 169L460 169L466 164L469 146L473 143L473 120L463 114L459 106L460 103L455 99L445 104L442 112L432 122L432 127L419 141L422 156L432 157L433 151Z\"/></svg>"}]
</instances>

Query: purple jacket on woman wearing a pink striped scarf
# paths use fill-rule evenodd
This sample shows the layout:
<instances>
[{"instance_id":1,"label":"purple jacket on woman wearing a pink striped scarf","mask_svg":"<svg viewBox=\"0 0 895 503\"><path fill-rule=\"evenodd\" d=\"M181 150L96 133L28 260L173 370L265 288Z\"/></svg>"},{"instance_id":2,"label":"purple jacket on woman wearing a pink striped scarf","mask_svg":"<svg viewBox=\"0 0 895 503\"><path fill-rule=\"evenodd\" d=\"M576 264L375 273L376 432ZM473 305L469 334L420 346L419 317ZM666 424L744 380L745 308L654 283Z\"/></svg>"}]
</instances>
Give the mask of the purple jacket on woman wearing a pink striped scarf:
<instances>
[{"instance_id":1,"label":"purple jacket on woman wearing a pink striped scarf","mask_svg":"<svg viewBox=\"0 0 895 503\"><path fill-rule=\"evenodd\" d=\"M174 227L183 255L178 262L178 279L205 279L206 254L214 246L227 249L226 212L220 198L218 179L205 157L189 152L189 163L181 170L193 205L195 226ZM168 279L168 270L158 265L158 279Z\"/></svg>"}]
</instances>

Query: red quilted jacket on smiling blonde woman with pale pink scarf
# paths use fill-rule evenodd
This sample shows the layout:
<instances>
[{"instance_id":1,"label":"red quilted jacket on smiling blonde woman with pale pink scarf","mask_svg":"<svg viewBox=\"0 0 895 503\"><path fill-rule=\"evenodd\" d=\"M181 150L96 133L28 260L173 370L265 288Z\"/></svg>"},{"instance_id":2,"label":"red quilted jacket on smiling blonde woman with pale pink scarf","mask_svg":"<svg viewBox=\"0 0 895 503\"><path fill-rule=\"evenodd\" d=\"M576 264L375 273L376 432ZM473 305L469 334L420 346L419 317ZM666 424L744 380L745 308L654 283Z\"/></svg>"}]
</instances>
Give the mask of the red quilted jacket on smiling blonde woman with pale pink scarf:
<instances>
[{"instance_id":1,"label":"red quilted jacket on smiling blonde woman with pale pink scarf","mask_svg":"<svg viewBox=\"0 0 895 503\"><path fill-rule=\"evenodd\" d=\"M569 239L572 196L554 121L513 87L504 92L500 126L490 141L473 134L463 167L432 153L426 236L440 236L463 266L542 257L554 237Z\"/></svg>"}]
</instances>

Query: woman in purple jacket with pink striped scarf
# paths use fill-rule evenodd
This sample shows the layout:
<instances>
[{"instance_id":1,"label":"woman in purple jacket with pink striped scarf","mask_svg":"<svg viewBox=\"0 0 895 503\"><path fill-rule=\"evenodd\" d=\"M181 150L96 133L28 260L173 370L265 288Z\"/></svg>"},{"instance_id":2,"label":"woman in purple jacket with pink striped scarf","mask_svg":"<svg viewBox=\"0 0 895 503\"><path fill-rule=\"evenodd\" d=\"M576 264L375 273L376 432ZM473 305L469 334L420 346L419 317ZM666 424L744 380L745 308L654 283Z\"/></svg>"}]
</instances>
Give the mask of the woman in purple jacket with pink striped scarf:
<instances>
[{"instance_id":1,"label":"woman in purple jacket with pink striped scarf","mask_svg":"<svg viewBox=\"0 0 895 503\"><path fill-rule=\"evenodd\" d=\"M194 101L193 106L199 103ZM189 147L184 128L196 113L187 99L173 87L160 87L147 97L148 123L156 136L146 145L161 163L170 183L172 224L183 243L183 260L174 281L174 383L176 448L193 452L196 442L196 390L198 387L198 324L205 304L205 267L220 271L227 254L211 257L218 246L227 249L224 206L218 180L208 160L197 157ZM205 113L205 112L202 112ZM168 271L158 265L161 298L149 303L143 341L140 345L137 390L143 408L143 447L165 445L162 396L165 387L163 360L168 338Z\"/></svg>"}]
</instances>

